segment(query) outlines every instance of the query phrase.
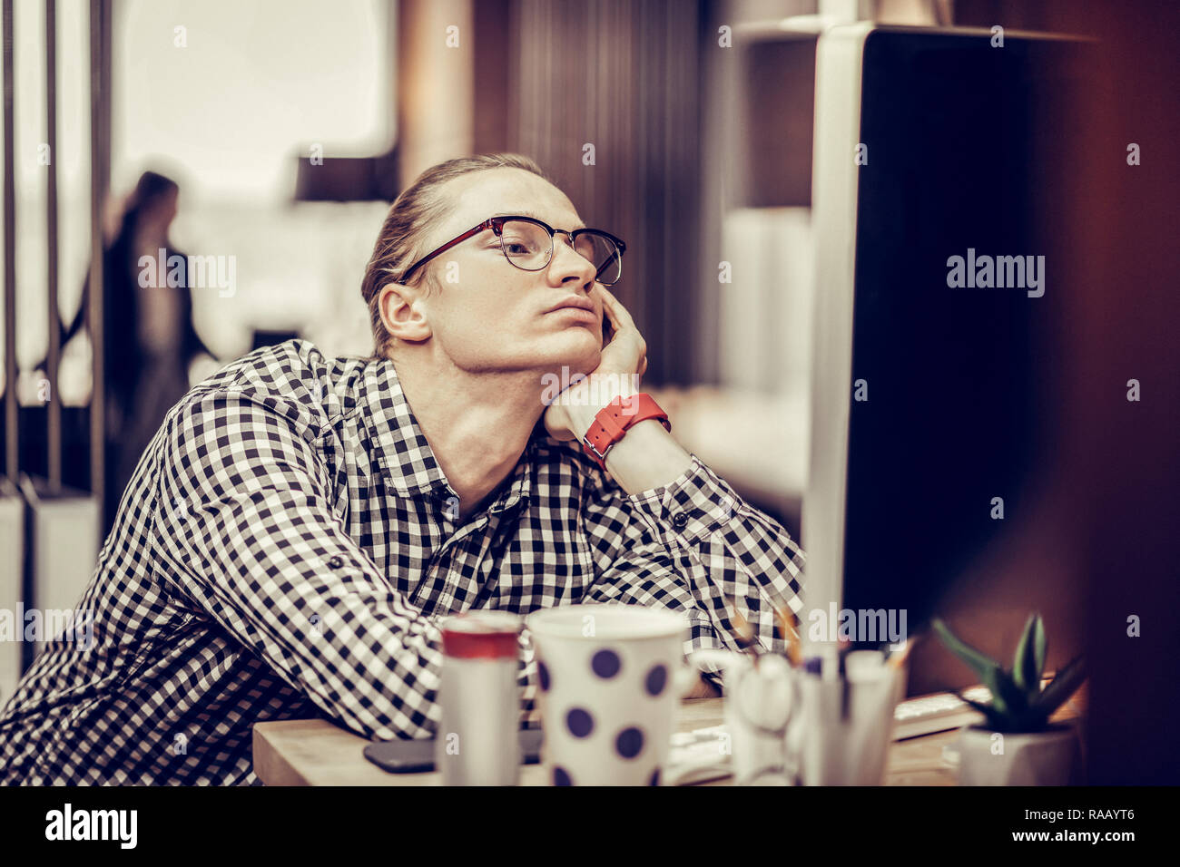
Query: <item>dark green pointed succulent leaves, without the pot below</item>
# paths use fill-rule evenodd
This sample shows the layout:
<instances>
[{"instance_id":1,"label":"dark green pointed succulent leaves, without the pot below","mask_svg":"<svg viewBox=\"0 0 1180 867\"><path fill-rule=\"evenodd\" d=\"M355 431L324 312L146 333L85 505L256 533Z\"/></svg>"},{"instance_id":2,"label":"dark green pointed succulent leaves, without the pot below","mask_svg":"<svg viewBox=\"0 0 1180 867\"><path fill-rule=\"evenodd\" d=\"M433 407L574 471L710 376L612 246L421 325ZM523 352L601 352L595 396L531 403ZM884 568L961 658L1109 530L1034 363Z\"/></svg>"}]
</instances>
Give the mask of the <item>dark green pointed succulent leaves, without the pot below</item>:
<instances>
[{"instance_id":1,"label":"dark green pointed succulent leaves, without the pot below","mask_svg":"<svg viewBox=\"0 0 1180 867\"><path fill-rule=\"evenodd\" d=\"M1011 671L959 641L942 620L935 618L931 625L948 650L966 663L979 676L979 682L991 691L990 704L972 701L958 692L956 695L983 714L994 731L1043 731L1054 711L1069 701L1086 679L1082 657L1077 656L1060 669L1044 689L1041 688L1048 644L1041 615L1029 615L1020 644L1016 645Z\"/></svg>"}]
</instances>

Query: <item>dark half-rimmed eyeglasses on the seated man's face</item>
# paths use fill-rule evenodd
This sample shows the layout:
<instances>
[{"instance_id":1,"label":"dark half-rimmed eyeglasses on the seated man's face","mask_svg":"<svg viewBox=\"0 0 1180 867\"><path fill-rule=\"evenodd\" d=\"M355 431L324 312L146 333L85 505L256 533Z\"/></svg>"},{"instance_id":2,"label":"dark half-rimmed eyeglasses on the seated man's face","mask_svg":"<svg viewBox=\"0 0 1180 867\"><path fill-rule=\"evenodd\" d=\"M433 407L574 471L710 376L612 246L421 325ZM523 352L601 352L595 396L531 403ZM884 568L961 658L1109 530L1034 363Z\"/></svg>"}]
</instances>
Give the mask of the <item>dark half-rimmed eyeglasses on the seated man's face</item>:
<instances>
[{"instance_id":1,"label":"dark half-rimmed eyeglasses on the seated man's face","mask_svg":"<svg viewBox=\"0 0 1180 867\"><path fill-rule=\"evenodd\" d=\"M428 256L418 260L402 275L401 282L409 280L411 274L440 252L450 250L455 244L485 229L496 232L504 258L524 271L539 271L549 264L553 257L553 235L560 232L570 239L570 247L594 265L597 282L603 285L612 285L623 276L623 251L627 249L627 244L623 243L622 238L616 238L610 232L598 229L575 229L570 232L564 229L553 229L532 217L491 217L442 244Z\"/></svg>"}]
</instances>

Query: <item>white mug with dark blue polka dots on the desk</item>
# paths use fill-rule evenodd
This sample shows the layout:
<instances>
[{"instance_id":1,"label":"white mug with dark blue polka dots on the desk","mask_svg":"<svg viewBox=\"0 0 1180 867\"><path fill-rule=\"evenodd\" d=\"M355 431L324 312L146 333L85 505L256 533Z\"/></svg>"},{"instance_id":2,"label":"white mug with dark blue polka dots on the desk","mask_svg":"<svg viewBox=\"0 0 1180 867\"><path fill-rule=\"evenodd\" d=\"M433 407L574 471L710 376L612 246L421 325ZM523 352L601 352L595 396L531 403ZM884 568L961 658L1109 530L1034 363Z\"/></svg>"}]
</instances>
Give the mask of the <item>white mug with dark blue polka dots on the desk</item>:
<instances>
[{"instance_id":1,"label":"white mug with dark blue polka dots on the desk","mask_svg":"<svg viewBox=\"0 0 1180 867\"><path fill-rule=\"evenodd\" d=\"M540 677L542 760L555 786L658 786L680 697L688 618L638 605L560 605L525 619Z\"/></svg>"}]
</instances>

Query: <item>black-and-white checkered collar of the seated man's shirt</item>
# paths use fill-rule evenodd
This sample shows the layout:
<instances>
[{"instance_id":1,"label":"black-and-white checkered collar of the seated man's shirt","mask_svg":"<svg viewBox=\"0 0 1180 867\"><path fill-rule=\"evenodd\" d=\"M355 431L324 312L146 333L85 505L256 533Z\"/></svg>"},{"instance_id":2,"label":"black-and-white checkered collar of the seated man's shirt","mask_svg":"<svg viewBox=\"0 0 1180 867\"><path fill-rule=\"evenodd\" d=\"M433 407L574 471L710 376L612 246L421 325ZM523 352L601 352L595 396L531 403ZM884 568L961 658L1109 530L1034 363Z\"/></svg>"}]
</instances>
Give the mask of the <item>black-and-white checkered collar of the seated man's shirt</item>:
<instances>
[{"instance_id":1,"label":"black-and-white checkered collar of the seated man's shirt","mask_svg":"<svg viewBox=\"0 0 1180 867\"><path fill-rule=\"evenodd\" d=\"M359 374L356 408L368 440L362 446L381 467L386 484L402 497L454 495L401 390L393 362L372 360ZM520 460L493 492L489 512L500 512L531 494L537 439L544 435L544 423L538 420Z\"/></svg>"}]
</instances>

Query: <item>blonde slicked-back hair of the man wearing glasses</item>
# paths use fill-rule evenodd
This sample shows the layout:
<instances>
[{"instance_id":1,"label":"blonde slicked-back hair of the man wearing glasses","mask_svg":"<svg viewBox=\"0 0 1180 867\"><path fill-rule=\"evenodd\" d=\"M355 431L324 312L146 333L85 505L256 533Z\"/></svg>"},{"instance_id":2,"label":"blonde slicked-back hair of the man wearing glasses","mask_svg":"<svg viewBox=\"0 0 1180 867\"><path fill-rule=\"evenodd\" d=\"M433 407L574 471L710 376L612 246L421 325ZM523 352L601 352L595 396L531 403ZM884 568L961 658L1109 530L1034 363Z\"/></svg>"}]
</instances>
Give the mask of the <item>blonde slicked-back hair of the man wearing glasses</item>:
<instances>
[{"instance_id":1,"label":"blonde slicked-back hair of the man wearing glasses","mask_svg":"<svg viewBox=\"0 0 1180 867\"><path fill-rule=\"evenodd\" d=\"M373 255L365 268L361 281L361 297L368 304L369 320L373 326L373 352L380 357L388 357L395 339L381 321L379 298L381 289L391 282L401 282L401 276L409 267L426 255L421 249L427 230L446 214L448 202L441 195L440 188L448 180L487 169L523 169L545 180L545 173L532 159L519 153L480 153L473 157L459 157L431 166L406 188L389 208L381 231L378 232ZM426 272L431 270L427 263L420 268L407 283L411 287L426 282L430 294L438 284L428 281Z\"/></svg>"}]
</instances>

